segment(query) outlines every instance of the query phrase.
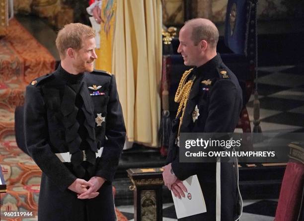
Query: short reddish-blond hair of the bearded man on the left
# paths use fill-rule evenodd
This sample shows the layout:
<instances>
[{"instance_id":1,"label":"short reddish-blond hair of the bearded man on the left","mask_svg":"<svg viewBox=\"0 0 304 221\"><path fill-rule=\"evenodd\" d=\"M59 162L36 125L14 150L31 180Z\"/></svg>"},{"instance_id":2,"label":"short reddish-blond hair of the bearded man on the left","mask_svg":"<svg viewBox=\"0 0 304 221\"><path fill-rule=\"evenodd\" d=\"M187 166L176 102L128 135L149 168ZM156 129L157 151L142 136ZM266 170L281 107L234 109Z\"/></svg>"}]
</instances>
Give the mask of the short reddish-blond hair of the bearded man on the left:
<instances>
[{"instance_id":1,"label":"short reddish-blond hair of the bearded man on the left","mask_svg":"<svg viewBox=\"0 0 304 221\"><path fill-rule=\"evenodd\" d=\"M79 50L85 38L95 37L95 31L87 25L81 23L66 24L56 38L56 47L60 57L65 57L68 48Z\"/></svg>"}]
</instances>

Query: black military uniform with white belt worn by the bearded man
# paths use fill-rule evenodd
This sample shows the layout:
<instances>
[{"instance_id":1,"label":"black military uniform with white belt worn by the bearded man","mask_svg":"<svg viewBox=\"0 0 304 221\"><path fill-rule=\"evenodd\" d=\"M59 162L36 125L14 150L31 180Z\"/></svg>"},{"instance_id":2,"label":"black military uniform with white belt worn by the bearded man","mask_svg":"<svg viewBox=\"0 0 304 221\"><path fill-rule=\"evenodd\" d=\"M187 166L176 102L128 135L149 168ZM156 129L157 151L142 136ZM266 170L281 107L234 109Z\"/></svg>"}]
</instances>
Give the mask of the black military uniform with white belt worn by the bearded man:
<instances>
[{"instance_id":1,"label":"black military uniform with white belt worn by the bearded man","mask_svg":"<svg viewBox=\"0 0 304 221\"><path fill-rule=\"evenodd\" d=\"M39 221L116 220L111 182L126 129L115 76L69 74L61 65L26 88L25 141L42 170ZM106 181L92 199L68 187L81 178Z\"/></svg>"}]
</instances>

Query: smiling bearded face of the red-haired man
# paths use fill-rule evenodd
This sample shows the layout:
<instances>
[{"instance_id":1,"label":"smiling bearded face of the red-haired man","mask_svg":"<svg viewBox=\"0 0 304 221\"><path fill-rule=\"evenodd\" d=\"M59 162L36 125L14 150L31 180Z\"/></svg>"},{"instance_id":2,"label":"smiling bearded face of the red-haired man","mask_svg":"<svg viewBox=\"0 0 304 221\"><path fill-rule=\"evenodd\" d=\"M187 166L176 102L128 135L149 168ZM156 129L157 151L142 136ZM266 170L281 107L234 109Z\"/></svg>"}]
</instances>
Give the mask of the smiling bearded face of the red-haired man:
<instances>
[{"instance_id":1,"label":"smiling bearded face of the red-haired man","mask_svg":"<svg viewBox=\"0 0 304 221\"><path fill-rule=\"evenodd\" d=\"M75 50L74 68L78 73L92 72L94 70L94 60L97 59L95 53L95 38L85 38L82 41L82 47Z\"/></svg>"}]
</instances>

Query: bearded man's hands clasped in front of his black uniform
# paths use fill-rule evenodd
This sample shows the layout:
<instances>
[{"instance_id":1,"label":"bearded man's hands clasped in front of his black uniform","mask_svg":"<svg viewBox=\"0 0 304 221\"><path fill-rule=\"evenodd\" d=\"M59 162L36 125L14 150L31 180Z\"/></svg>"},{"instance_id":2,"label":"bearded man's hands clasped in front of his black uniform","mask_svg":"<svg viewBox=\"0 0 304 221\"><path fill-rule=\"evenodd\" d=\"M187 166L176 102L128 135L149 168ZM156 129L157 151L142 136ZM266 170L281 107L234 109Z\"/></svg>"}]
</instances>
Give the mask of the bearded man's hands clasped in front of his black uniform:
<instances>
[{"instance_id":1,"label":"bearded man's hands clasped in front of his black uniform","mask_svg":"<svg viewBox=\"0 0 304 221\"><path fill-rule=\"evenodd\" d=\"M77 178L69 187L69 190L77 193L78 199L92 199L99 195L97 192L102 184L105 182L105 179L99 176L93 176L89 181L84 179Z\"/></svg>"}]
</instances>

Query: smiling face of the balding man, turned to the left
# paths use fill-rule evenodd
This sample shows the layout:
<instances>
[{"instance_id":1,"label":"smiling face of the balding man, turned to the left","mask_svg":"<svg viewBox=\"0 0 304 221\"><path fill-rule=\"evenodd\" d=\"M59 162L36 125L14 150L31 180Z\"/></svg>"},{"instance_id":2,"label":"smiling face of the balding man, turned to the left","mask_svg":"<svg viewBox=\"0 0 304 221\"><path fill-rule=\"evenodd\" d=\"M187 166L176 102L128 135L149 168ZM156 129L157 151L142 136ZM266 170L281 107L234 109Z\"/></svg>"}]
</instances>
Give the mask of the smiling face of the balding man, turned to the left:
<instances>
[{"instance_id":1,"label":"smiling face of the balding man, turned to the left","mask_svg":"<svg viewBox=\"0 0 304 221\"><path fill-rule=\"evenodd\" d=\"M202 47L201 44L194 45L191 39L192 28L183 27L179 32L179 46L177 49L178 53L181 53L186 66L199 66L202 61Z\"/></svg>"}]
</instances>

